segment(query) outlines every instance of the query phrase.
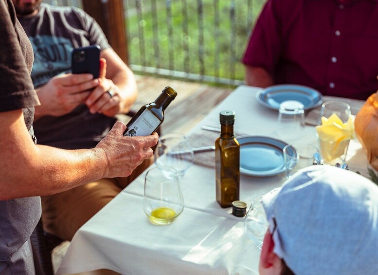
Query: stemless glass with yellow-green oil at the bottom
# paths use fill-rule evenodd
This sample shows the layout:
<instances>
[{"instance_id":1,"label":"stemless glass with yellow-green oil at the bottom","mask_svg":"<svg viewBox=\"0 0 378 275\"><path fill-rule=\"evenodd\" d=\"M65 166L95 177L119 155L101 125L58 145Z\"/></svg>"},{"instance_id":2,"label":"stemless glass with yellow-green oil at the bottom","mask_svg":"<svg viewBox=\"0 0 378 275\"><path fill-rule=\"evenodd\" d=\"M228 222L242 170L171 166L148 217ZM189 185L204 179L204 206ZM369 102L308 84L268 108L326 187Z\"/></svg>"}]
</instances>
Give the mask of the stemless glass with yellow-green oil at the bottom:
<instances>
[{"instance_id":1,"label":"stemless glass with yellow-green oil at the bottom","mask_svg":"<svg viewBox=\"0 0 378 275\"><path fill-rule=\"evenodd\" d=\"M155 167L144 177L144 213L154 224L166 225L174 221L184 209L184 199L177 170Z\"/></svg>"}]
</instances>

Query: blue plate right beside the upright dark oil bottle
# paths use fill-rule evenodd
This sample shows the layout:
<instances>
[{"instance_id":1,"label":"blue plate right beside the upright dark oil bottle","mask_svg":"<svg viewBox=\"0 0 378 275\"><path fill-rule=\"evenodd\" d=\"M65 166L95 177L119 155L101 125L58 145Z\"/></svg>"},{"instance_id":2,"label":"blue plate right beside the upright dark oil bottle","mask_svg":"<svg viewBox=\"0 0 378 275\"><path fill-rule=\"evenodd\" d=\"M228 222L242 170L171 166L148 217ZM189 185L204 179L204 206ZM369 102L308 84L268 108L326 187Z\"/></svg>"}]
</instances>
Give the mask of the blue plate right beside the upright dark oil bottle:
<instances>
[{"instance_id":1,"label":"blue plate right beside the upright dark oil bottle","mask_svg":"<svg viewBox=\"0 0 378 275\"><path fill-rule=\"evenodd\" d=\"M285 172L283 149L288 144L264 136L242 136L240 144L240 174L268 177ZM296 155L292 147L292 155Z\"/></svg>"}]
</instances>

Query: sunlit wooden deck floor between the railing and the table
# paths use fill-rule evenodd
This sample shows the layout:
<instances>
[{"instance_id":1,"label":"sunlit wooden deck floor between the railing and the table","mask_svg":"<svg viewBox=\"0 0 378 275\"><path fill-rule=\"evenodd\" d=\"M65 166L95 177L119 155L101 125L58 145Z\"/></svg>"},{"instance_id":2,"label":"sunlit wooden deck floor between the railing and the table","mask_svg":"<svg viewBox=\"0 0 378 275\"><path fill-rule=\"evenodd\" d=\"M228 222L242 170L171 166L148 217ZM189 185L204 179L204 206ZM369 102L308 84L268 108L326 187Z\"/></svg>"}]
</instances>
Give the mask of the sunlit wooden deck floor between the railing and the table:
<instances>
[{"instance_id":1,"label":"sunlit wooden deck floor between the railing and the table","mask_svg":"<svg viewBox=\"0 0 378 275\"><path fill-rule=\"evenodd\" d=\"M222 101L233 88L210 86L202 83L185 82L153 76L135 75L139 96L135 109L152 102L165 86L171 86L178 93L165 111L162 132L187 133L210 110Z\"/></svg>"}]
</instances>

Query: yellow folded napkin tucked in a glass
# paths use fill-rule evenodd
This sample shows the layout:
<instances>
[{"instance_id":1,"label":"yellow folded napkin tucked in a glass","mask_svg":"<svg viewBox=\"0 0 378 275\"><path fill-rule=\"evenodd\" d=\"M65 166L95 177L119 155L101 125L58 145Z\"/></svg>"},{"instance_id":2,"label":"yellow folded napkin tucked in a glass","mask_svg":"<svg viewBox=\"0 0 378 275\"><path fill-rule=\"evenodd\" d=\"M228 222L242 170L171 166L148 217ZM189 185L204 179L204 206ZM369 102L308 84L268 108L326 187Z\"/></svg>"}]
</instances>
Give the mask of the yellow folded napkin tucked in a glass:
<instances>
[{"instance_id":1,"label":"yellow folded napkin tucked in a glass","mask_svg":"<svg viewBox=\"0 0 378 275\"><path fill-rule=\"evenodd\" d=\"M343 123L336 115L322 117L322 125L316 127L320 139L320 151L325 161L341 157L349 144L355 138L354 116Z\"/></svg>"}]
</instances>

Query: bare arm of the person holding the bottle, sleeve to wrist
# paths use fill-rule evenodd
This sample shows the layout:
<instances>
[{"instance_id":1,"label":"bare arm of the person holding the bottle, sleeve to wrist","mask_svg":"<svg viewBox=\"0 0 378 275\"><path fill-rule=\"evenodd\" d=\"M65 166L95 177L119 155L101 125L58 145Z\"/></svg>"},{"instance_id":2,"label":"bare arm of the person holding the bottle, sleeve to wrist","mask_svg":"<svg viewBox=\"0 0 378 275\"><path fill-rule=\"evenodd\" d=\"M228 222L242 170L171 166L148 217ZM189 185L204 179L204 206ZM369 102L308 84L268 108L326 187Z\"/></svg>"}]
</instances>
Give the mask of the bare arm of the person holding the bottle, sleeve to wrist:
<instances>
[{"instance_id":1,"label":"bare arm of the person holding the bottle, sleeve to wrist","mask_svg":"<svg viewBox=\"0 0 378 275\"><path fill-rule=\"evenodd\" d=\"M9 138L0 139L0 200L58 193L107 173L103 149L63 150L35 145L23 121L13 121L8 127Z\"/></svg>"}]
</instances>

